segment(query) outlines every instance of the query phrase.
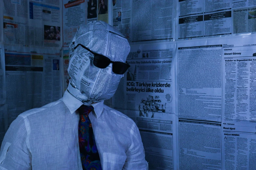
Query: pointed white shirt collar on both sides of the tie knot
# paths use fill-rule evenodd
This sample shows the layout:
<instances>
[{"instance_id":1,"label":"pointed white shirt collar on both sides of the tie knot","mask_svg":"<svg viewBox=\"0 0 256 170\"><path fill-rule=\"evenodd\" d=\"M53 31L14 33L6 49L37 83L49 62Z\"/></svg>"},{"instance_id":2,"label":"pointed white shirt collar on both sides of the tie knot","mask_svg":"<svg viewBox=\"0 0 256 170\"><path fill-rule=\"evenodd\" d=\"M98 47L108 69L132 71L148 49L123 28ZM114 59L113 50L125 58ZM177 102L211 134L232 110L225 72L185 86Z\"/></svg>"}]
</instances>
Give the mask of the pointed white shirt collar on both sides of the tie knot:
<instances>
[{"instance_id":1,"label":"pointed white shirt collar on both sides of the tie knot","mask_svg":"<svg viewBox=\"0 0 256 170\"><path fill-rule=\"evenodd\" d=\"M67 90L64 92L62 101L68 107L71 114L73 114L80 106L83 105L83 103L80 100L78 100L76 97L70 94ZM94 107L94 113L96 114L97 119L100 117L103 111L103 102L104 101L100 101L91 105Z\"/></svg>"}]
</instances>

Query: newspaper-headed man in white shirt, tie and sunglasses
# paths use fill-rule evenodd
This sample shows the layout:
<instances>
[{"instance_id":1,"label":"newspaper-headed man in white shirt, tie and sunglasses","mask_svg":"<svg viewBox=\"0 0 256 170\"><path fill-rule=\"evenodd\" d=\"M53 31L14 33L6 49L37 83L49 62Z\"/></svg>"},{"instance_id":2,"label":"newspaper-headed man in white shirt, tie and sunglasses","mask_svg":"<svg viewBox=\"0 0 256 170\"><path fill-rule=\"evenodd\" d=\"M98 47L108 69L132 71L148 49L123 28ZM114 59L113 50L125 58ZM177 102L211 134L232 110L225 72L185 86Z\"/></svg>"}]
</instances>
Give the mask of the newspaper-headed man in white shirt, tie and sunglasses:
<instances>
[{"instance_id":1,"label":"newspaper-headed man in white shirt, tie and sunglasses","mask_svg":"<svg viewBox=\"0 0 256 170\"><path fill-rule=\"evenodd\" d=\"M0 169L146 170L138 127L103 104L128 69L130 46L103 21L81 26L70 45L71 77L63 97L14 120Z\"/></svg>"}]
</instances>

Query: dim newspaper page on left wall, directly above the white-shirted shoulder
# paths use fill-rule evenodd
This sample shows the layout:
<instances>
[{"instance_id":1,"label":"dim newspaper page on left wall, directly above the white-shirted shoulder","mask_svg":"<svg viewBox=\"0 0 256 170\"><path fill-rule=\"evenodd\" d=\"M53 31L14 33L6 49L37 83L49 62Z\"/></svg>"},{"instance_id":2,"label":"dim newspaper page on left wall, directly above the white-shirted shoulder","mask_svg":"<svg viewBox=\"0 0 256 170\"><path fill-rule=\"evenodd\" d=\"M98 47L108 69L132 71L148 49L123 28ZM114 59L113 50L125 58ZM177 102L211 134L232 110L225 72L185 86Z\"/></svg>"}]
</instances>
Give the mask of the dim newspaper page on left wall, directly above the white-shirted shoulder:
<instances>
[{"instance_id":1,"label":"dim newspaper page on left wall, directly above the white-shirted shoulder","mask_svg":"<svg viewBox=\"0 0 256 170\"><path fill-rule=\"evenodd\" d=\"M9 126L22 112L61 98L60 51L5 48Z\"/></svg>"}]
</instances>

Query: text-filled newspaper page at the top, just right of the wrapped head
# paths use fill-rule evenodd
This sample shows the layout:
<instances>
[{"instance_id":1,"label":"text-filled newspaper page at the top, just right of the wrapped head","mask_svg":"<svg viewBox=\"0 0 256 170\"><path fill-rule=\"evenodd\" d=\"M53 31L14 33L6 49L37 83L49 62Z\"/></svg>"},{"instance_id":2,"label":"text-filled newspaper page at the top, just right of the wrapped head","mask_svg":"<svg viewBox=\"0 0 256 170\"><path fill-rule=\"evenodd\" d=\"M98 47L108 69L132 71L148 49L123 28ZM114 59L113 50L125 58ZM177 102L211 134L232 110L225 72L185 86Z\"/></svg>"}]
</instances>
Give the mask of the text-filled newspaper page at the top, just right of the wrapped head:
<instances>
[{"instance_id":1,"label":"text-filled newspaper page at the top, just right of the wrapped head","mask_svg":"<svg viewBox=\"0 0 256 170\"><path fill-rule=\"evenodd\" d=\"M175 38L175 1L113 0L112 4L113 26L129 42L172 41Z\"/></svg>"}]
</instances>

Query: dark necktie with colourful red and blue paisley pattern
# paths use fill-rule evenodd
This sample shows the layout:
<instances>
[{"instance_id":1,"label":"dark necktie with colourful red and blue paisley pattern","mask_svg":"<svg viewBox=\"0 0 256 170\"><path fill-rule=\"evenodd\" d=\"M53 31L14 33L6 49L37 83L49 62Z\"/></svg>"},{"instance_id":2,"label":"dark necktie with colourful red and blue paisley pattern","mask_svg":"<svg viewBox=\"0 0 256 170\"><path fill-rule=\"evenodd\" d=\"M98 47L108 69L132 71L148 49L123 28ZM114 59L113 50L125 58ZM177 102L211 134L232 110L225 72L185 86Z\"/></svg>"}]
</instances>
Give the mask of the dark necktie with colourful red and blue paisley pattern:
<instances>
[{"instance_id":1,"label":"dark necktie with colourful red and blue paisley pattern","mask_svg":"<svg viewBox=\"0 0 256 170\"><path fill-rule=\"evenodd\" d=\"M78 139L83 170L102 170L98 149L94 139L92 123L88 116L93 110L93 106L82 105L78 108L80 114Z\"/></svg>"}]
</instances>

